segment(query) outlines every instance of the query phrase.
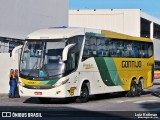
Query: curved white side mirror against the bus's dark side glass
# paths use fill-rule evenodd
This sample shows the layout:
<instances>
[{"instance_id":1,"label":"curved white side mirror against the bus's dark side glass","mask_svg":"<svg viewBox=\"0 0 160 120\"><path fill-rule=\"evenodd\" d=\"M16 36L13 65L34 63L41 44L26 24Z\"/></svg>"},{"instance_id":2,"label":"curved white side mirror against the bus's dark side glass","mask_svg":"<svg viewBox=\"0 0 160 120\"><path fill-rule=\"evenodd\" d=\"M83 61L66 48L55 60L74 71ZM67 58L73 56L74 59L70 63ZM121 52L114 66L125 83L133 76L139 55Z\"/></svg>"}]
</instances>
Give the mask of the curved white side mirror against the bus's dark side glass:
<instances>
[{"instance_id":1,"label":"curved white side mirror against the bus's dark side glass","mask_svg":"<svg viewBox=\"0 0 160 120\"><path fill-rule=\"evenodd\" d=\"M64 48L64 50L63 50L63 52L62 52L62 61L63 61L63 62L67 61L68 51L69 51L69 49L71 49L73 46L75 46L75 44L69 44L69 45L67 45L67 46Z\"/></svg>"}]
</instances>

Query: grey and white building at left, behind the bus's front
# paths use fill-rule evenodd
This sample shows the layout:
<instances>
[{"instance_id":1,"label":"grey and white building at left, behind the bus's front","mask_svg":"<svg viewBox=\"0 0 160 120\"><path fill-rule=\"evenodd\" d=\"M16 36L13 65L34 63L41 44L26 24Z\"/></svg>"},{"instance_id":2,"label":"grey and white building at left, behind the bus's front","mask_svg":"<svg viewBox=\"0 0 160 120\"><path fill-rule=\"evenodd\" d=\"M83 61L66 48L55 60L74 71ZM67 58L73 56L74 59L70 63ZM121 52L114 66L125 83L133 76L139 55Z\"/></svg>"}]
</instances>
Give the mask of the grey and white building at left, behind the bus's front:
<instances>
[{"instance_id":1,"label":"grey and white building at left, behind the bus's front","mask_svg":"<svg viewBox=\"0 0 160 120\"><path fill-rule=\"evenodd\" d=\"M8 93L9 70L18 68L9 52L35 30L68 26L68 0L0 0L0 16L0 93Z\"/></svg>"}]
</instances>

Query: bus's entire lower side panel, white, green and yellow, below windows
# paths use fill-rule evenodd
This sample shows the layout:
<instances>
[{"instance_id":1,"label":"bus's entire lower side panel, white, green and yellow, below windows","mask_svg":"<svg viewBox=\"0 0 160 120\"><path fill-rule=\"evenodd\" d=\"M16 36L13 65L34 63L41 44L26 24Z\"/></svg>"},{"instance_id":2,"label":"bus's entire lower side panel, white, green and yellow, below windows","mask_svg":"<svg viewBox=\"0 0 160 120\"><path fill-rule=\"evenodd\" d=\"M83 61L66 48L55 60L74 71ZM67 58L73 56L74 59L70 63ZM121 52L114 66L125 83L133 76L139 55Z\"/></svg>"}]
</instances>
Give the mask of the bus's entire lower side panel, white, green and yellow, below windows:
<instances>
[{"instance_id":1,"label":"bus's entire lower side panel, white, green and yellow, below windows","mask_svg":"<svg viewBox=\"0 0 160 120\"><path fill-rule=\"evenodd\" d=\"M137 84L143 78L144 88L148 88L153 85L149 64L153 65L153 58L88 58L80 63L79 83L89 80L91 94L129 91L133 78Z\"/></svg>"}]
</instances>

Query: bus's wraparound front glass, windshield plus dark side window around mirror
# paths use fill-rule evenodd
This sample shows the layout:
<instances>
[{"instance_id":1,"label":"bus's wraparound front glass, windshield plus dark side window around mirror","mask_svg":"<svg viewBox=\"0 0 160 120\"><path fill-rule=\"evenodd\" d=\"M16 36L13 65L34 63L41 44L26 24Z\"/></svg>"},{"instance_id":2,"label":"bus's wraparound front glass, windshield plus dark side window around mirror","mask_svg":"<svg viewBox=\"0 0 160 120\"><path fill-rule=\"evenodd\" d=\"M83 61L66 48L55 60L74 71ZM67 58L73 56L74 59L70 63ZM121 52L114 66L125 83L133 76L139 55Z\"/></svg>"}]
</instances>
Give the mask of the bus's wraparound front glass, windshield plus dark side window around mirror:
<instances>
[{"instance_id":1,"label":"bus's wraparound front glass, windshield plus dark side window around mirror","mask_svg":"<svg viewBox=\"0 0 160 120\"><path fill-rule=\"evenodd\" d=\"M84 36L68 39L27 40L21 55L20 77L26 79L53 79L69 74L78 66ZM68 44L75 44L68 52L67 62L62 52Z\"/></svg>"}]
</instances>

